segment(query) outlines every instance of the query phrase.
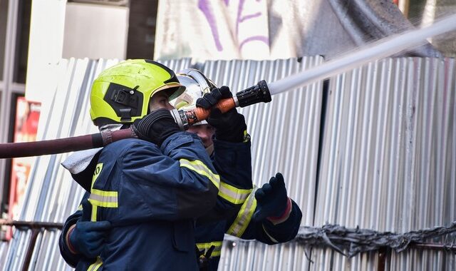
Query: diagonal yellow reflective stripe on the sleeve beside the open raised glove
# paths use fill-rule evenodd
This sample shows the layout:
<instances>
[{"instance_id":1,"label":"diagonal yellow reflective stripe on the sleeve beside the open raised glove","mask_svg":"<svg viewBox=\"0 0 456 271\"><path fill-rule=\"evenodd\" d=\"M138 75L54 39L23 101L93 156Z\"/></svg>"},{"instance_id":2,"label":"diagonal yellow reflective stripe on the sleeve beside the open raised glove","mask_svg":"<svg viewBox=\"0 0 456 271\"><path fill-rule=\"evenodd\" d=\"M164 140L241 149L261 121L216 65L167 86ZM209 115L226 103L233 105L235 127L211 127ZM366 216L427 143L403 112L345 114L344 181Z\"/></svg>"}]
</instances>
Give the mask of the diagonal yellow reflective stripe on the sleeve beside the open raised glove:
<instances>
[{"instance_id":1,"label":"diagonal yellow reflective stripe on the sleeve beside the open raised glove","mask_svg":"<svg viewBox=\"0 0 456 271\"><path fill-rule=\"evenodd\" d=\"M236 237L241 237L244 234L245 229L252 220L252 215L254 215L255 208L257 208L257 199L255 198L255 191L257 188L252 190L249 198L244 202L237 213L237 217L234 220L233 224L229 227L227 233Z\"/></svg>"}]
</instances>

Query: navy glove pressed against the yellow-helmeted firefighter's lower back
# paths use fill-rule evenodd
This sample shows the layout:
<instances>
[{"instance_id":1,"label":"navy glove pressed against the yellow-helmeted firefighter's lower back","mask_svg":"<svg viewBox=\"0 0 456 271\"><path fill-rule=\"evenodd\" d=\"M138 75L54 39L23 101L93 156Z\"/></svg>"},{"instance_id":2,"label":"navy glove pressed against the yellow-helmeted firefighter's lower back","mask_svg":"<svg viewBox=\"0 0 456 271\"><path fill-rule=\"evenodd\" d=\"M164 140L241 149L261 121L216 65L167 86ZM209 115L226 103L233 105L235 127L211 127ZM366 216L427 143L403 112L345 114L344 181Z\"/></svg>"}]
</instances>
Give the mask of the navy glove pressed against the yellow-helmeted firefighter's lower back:
<instances>
[{"instance_id":1,"label":"navy glove pressed against the yellow-helmeted firefighter's lower back","mask_svg":"<svg viewBox=\"0 0 456 271\"><path fill-rule=\"evenodd\" d=\"M81 221L68 230L68 247L73 253L81 253L88 258L97 257L103 250L105 237L111 224L108 221Z\"/></svg>"}]
</instances>

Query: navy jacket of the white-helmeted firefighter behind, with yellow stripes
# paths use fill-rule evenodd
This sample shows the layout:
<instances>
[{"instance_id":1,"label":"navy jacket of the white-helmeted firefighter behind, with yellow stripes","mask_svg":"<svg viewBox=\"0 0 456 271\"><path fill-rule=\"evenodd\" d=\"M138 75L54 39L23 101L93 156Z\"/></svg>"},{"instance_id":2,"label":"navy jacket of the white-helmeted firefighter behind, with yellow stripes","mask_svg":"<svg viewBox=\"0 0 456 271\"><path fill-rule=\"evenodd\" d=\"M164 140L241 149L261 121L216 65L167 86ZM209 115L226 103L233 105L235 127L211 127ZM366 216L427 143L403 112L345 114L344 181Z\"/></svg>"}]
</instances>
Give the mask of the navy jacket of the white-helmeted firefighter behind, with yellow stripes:
<instances>
[{"instance_id":1,"label":"navy jacket of the white-helmeted firefighter behind, with yellow stripes","mask_svg":"<svg viewBox=\"0 0 456 271\"><path fill-rule=\"evenodd\" d=\"M250 142L228 143L214 140L212 161L221 183L215 208L197 220L194 240L202 254L206 254L207 250L214 246L208 259L209 270L217 270L225 233L275 244L292 240L299 230L302 215L294 202L289 219L284 223L273 225L269 220L258 223L251 220L257 203L252 185L250 146ZM78 262L78 256L68 251L63 237L68 227L75 224L80 216L81 213L77 212L68 218L60 238L62 255L70 265Z\"/></svg>"}]
</instances>

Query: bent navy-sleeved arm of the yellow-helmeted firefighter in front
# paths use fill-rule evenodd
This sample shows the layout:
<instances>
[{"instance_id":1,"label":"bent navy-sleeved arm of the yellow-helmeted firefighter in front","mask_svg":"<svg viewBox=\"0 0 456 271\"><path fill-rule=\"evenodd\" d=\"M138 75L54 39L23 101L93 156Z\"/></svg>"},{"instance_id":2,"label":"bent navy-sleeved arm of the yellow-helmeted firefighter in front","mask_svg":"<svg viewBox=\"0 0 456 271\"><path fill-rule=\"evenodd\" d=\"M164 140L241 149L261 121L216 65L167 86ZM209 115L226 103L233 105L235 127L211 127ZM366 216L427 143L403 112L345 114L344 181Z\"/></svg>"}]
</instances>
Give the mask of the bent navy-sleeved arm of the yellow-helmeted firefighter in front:
<instances>
[{"instance_id":1,"label":"bent navy-sleeved arm of the yellow-helmeted firefighter in front","mask_svg":"<svg viewBox=\"0 0 456 271\"><path fill-rule=\"evenodd\" d=\"M131 204L140 202L145 206L130 206L140 213L128 215L135 215L135 219L181 220L197 218L212 209L220 180L201 140L181 131L164 140L160 148L138 141L123 155L123 177L133 183L133 190L125 193L140 196Z\"/></svg>"}]
</instances>

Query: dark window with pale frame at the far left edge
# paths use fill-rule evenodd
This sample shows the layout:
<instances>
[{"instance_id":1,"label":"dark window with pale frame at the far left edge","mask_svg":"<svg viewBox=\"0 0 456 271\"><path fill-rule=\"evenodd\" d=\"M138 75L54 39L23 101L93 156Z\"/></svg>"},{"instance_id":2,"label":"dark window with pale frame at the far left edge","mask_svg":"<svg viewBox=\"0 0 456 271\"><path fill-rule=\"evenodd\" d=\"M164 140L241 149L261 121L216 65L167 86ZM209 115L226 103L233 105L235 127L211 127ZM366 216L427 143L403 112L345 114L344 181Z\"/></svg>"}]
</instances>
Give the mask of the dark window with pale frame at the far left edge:
<instances>
[{"instance_id":1,"label":"dark window with pale frame at the far left edge","mask_svg":"<svg viewBox=\"0 0 456 271\"><path fill-rule=\"evenodd\" d=\"M31 1L0 0L0 142L12 142L16 103L24 95ZM9 9L15 11L10 13ZM11 61L6 60L11 59ZM11 160L0 161L0 213L8 210Z\"/></svg>"}]
</instances>

